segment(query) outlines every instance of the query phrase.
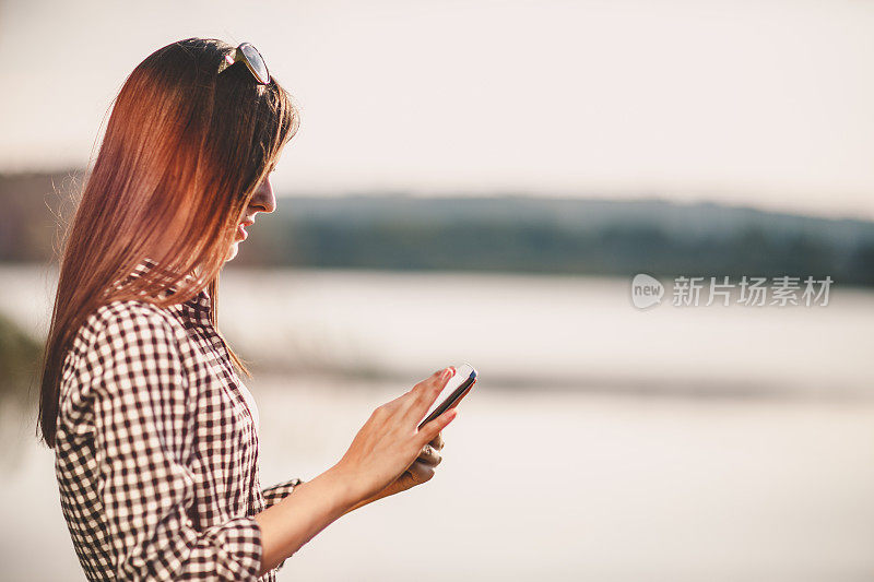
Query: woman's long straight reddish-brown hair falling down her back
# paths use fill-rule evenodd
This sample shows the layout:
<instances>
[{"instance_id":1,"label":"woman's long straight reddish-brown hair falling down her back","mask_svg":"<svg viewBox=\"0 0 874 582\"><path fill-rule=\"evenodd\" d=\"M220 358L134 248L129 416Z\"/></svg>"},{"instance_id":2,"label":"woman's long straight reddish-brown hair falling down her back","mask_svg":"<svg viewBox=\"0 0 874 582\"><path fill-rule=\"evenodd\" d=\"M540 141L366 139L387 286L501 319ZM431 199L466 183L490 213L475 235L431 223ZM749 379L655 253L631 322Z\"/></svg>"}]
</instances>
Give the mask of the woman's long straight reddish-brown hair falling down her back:
<instances>
[{"instance_id":1,"label":"woman's long straight reddish-brown hair falling down her back","mask_svg":"<svg viewBox=\"0 0 874 582\"><path fill-rule=\"evenodd\" d=\"M167 45L133 70L115 99L60 250L37 421L49 447L64 357L98 307L128 299L169 307L205 288L216 324L218 272L235 227L299 124L275 79L260 85L243 62L218 74L233 50L216 39ZM127 277L144 259L157 266ZM161 297L169 287L174 293Z\"/></svg>"}]
</instances>

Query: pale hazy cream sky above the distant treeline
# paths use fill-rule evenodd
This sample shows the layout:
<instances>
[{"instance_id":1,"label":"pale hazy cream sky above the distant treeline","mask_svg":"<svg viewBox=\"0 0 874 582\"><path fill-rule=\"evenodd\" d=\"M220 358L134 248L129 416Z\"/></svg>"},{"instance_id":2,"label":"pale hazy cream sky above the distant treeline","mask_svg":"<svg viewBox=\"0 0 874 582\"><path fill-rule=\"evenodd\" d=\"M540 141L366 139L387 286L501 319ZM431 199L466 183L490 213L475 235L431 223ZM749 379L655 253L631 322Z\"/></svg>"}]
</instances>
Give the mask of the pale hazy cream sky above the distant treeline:
<instances>
[{"instance_id":1,"label":"pale hazy cream sky above the distant treeline","mask_svg":"<svg viewBox=\"0 0 874 582\"><path fill-rule=\"evenodd\" d=\"M0 0L0 169L84 166L126 75L255 43L285 192L659 195L874 218L874 1Z\"/></svg>"}]
</instances>

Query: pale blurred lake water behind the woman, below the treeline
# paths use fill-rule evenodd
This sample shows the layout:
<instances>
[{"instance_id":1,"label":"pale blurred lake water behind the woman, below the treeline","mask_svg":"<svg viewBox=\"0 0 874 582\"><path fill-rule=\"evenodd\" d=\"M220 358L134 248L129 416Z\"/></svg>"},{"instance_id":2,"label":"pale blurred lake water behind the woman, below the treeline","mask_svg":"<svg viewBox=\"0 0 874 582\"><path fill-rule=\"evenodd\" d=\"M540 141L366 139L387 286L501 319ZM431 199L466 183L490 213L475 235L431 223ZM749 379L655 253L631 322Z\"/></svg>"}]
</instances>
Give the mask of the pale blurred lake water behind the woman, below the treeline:
<instances>
[{"instance_id":1,"label":"pale blurred lake water behind the woman, below the treeline","mask_svg":"<svg viewBox=\"0 0 874 582\"><path fill-rule=\"evenodd\" d=\"M481 372L435 479L342 518L280 580L871 580L874 293L639 311L629 283L227 269L265 486L328 468L435 369ZM54 285L0 268L0 312L42 337ZM3 578L83 580L34 414L0 414Z\"/></svg>"}]
</instances>

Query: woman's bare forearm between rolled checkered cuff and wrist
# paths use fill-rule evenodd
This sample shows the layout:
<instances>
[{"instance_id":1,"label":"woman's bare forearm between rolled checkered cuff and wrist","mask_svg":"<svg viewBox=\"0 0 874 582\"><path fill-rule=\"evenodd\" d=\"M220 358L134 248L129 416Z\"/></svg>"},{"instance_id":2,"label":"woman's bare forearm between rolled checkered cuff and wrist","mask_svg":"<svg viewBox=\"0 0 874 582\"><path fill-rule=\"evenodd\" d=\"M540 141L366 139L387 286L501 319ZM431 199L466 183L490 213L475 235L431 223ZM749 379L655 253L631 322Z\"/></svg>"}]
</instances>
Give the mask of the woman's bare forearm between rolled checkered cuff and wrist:
<instances>
[{"instance_id":1,"label":"woman's bare forearm between rolled checkered cuff and wrist","mask_svg":"<svg viewBox=\"0 0 874 582\"><path fill-rule=\"evenodd\" d=\"M332 467L295 486L294 492L255 516L261 527L259 577L279 566L359 502L351 479Z\"/></svg>"}]
</instances>

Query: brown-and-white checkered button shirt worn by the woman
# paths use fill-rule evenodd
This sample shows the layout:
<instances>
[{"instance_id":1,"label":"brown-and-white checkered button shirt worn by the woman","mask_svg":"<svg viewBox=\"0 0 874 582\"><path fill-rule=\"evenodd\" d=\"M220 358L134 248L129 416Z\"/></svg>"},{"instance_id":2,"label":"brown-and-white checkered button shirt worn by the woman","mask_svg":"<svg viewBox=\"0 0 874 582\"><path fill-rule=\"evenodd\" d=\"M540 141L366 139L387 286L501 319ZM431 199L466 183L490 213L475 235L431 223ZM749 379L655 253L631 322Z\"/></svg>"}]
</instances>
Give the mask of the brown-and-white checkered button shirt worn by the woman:
<instances>
[{"instance_id":1,"label":"brown-and-white checkered button shirt worn by the woman","mask_svg":"<svg viewBox=\"0 0 874 582\"><path fill-rule=\"evenodd\" d=\"M253 516L300 479L261 488L248 391L209 300L105 305L67 354L55 468L88 580L275 581L284 565L258 578Z\"/></svg>"}]
</instances>

